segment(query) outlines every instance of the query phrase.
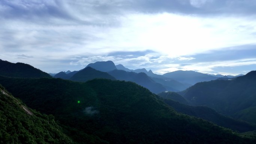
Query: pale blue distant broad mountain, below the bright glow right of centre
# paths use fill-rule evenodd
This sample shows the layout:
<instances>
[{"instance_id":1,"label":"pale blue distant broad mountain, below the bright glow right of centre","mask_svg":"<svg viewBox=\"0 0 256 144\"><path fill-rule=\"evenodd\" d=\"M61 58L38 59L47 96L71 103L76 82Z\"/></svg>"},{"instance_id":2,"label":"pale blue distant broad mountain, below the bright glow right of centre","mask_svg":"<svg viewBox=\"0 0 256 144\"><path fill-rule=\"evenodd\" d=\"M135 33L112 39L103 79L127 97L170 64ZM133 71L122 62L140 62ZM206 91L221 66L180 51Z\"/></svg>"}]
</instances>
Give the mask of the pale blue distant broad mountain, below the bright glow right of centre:
<instances>
[{"instance_id":1,"label":"pale blue distant broad mountain, below the bright glow right of centre","mask_svg":"<svg viewBox=\"0 0 256 144\"><path fill-rule=\"evenodd\" d=\"M194 85L198 82L205 82L210 80L216 80L218 77L210 76L204 73L198 73L195 71L173 71L170 73L165 73L163 76L177 80L178 82L188 83Z\"/></svg>"}]
</instances>

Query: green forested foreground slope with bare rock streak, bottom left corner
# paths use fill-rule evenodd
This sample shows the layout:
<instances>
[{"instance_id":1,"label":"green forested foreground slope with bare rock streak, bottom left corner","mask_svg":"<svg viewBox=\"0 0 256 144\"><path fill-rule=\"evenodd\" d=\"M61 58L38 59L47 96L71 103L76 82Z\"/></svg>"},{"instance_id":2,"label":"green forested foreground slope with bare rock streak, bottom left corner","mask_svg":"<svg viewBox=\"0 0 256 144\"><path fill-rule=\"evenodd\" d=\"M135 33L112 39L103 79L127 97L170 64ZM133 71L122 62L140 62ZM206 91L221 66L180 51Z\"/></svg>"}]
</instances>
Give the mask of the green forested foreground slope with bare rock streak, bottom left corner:
<instances>
[{"instance_id":1,"label":"green forested foreground slope with bare rock streak, bottom left corner","mask_svg":"<svg viewBox=\"0 0 256 144\"><path fill-rule=\"evenodd\" d=\"M0 85L1 144L73 144L54 116L31 110Z\"/></svg>"}]
</instances>

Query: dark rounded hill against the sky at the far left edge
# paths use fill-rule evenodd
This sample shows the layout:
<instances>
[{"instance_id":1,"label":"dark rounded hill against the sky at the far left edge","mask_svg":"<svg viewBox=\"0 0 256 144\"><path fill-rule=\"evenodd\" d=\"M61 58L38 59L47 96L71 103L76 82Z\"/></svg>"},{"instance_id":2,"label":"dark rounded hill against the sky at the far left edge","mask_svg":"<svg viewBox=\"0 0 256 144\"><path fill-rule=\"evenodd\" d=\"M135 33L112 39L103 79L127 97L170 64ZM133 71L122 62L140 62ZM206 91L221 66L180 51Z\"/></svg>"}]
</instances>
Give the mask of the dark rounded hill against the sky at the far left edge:
<instances>
[{"instance_id":1,"label":"dark rounded hill against the sky at the far left edge","mask_svg":"<svg viewBox=\"0 0 256 144\"><path fill-rule=\"evenodd\" d=\"M8 77L52 77L31 65L17 62L16 64L0 59L0 75Z\"/></svg>"}]
</instances>

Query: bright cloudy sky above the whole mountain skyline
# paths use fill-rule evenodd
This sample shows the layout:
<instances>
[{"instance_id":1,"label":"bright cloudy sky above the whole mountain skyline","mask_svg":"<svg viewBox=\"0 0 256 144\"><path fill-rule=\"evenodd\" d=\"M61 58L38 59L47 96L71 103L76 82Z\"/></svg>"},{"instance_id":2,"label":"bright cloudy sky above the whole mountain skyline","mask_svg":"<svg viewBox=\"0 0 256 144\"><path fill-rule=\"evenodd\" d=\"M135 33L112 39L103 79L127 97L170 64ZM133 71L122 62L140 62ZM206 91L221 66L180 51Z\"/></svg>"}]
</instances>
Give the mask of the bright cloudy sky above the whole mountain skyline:
<instances>
[{"instance_id":1,"label":"bright cloudy sky above the whole mountain skyline","mask_svg":"<svg viewBox=\"0 0 256 144\"><path fill-rule=\"evenodd\" d=\"M0 59L47 73L96 61L157 74L256 70L255 0L1 0Z\"/></svg>"}]
</instances>

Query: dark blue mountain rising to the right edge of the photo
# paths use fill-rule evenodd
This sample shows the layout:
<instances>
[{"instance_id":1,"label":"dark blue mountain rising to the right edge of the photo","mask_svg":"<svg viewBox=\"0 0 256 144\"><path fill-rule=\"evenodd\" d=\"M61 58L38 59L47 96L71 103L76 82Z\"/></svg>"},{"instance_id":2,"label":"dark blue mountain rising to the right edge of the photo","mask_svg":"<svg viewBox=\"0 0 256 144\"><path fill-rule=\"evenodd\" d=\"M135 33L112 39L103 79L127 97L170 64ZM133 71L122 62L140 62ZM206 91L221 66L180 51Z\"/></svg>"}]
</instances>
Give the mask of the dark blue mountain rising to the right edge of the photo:
<instances>
[{"instance_id":1,"label":"dark blue mountain rising to the right edge of the photo","mask_svg":"<svg viewBox=\"0 0 256 144\"><path fill-rule=\"evenodd\" d=\"M181 92L193 105L205 105L219 113L256 123L256 71L233 80L196 83Z\"/></svg>"}]
</instances>

